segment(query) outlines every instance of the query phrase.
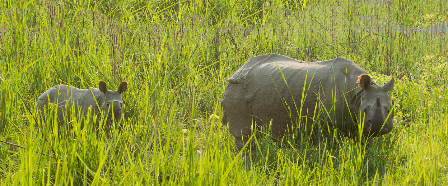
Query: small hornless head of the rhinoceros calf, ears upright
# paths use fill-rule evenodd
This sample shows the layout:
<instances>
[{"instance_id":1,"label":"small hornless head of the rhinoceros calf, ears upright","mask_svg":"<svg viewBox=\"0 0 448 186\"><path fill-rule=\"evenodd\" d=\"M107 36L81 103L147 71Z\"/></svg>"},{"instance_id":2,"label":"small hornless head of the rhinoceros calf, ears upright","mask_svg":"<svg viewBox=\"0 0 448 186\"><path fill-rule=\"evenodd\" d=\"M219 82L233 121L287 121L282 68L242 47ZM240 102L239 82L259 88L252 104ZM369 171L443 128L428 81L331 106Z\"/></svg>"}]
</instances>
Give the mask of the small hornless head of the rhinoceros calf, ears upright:
<instances>
[{"instance_id":1,"label":"small hornless head of the rhinoceros calf, ears upright","mask_svg":"<svg viewBox=\"0 0 448 186\"><path fill-rule=\"evenodd\" d=\"M101 112L104 116L113 116L116 120L120 120L123 115L123 99L121 94L128 88L128 82L121 82L116 91L108 91L106 83L99 81L98 89L104 93L103 103L98 103L101 106Z\"/></svg>"}]
</instances>

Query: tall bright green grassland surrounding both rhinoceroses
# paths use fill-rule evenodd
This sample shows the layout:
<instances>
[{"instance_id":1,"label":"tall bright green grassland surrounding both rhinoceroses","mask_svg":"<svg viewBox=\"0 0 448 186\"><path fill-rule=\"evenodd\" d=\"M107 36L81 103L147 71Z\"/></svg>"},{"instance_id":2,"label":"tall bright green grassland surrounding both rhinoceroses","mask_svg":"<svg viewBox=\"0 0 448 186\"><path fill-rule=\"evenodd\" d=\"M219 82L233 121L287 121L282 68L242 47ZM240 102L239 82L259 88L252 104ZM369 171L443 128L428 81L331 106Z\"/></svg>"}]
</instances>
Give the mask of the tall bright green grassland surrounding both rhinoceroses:
<instances>
[{"instance_id":1,"label":"tall bright green grassland surrounding both rhinoceroses","mask_svg":"<svg viewBox=\"0 0 448 186\"><path fill-rule=\"evenodd\" d=\"M27 149L0 143L0 185L447 185L447 16L444 0L2 1L0 140ZM262 136L244 160L219 101L266 53L395 77L395 128L367 149ZM34 127L47 88L99 80L129 82L123 124Z\"/></svg>"}]
</instances>

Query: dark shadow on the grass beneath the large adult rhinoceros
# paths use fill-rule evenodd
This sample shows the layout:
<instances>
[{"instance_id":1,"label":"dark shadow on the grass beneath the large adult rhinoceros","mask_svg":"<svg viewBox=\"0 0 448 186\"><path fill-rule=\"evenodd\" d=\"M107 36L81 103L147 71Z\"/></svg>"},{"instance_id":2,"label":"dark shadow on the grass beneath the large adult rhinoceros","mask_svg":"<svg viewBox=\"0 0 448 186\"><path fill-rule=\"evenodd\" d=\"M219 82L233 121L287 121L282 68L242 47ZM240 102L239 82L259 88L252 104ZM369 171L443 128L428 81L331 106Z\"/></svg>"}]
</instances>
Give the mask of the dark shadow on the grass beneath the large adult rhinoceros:
<instances>
[{"instance_id":1,"label":"dark shadow on the grass beneath the large adult rhinoceros","mask_svg":"<svg viewBox=\"0 0 448 186\"><path fill-rule=\"evenodd\" d=\"M265 130L256 130L242 156L245 159L246 171L256 171L264 174L272 182L280 184L287 179L286 170L291 165L300 169L304 177L322 174L325 178L330 174L342 174L341 177L356 175L354 180L360 183L381 182L387 173L388 166L395 164L395 146L398 138L385 135L375 138L370 147L362 141L349 137L333 139L309 139L285 135L283 140L276 140ZM400 164L406 161L400 158ZM285 164L284 162L289 162ZM400 165L398 165L400 166ZM340 170L353 169L350 173ZM355 174L351 174L355 171ZM318 173L319 172L319 173ZM319 177L319 176L317 176ZM310 180L313 183L318 180Z\"/></svg>"}]
</instances>

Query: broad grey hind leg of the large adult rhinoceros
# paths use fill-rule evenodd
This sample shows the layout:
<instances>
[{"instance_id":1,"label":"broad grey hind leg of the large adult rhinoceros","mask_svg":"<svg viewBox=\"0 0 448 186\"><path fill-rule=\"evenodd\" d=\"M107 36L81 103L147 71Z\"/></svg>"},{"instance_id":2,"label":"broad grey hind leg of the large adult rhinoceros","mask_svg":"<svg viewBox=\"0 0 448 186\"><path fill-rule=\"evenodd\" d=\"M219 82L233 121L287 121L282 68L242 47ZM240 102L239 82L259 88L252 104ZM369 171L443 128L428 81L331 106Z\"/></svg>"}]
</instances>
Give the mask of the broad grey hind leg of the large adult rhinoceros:
<instances>
[{"instance_id":1,"label":"broad grey hind leg of the large adult rhinoceros","mask_svg":"<svg viewBox=\"0 0 448 186\"><path fill-rule=\"evenodd\" d=\"M240 151L247 143L253 126L252 111L244 99L244 85L229 83L221 104L227 116L228 130L235 137L235 148Z\"/></svg>"}]
</instances>

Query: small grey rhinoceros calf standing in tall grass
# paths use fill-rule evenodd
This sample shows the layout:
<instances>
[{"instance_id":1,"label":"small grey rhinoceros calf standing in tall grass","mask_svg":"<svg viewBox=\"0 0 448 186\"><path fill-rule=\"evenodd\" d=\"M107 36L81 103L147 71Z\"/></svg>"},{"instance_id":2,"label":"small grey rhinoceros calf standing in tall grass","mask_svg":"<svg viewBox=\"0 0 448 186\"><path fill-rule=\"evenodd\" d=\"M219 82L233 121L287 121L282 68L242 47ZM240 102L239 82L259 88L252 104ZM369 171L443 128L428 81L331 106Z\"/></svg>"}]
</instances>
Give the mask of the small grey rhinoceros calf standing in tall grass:
<instances>
[{"instance_id":1,"label":"small grey rhinoceros calf standing in tall grass","mask_svg":"<svg viewBox=\"0 0 448 186\"><path fill-rule=\"evenodd\" d=\"M123 115L123 99L121 94L128 88L128 82L121 82L116 91L108 91L106 83L99 81L98 88L90 87L88 89L79 89L68 85L56 85L51 87L36 101L36 107L41 113L49 113L51 107L57 106L57 120L58 124L63 124L64 118L67 118L68 123L71 115L74 113L82 116L98 116L96 121L99 121L100 116L104 116L108 122L113 120L121 120ZM55 109L56 110L56 109ZM81 112L81 113L79 113ZM45 120L45 115L42 119ZM84 126L82 120L81 128Z\"/></svg>"}]
</instances>

